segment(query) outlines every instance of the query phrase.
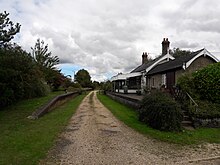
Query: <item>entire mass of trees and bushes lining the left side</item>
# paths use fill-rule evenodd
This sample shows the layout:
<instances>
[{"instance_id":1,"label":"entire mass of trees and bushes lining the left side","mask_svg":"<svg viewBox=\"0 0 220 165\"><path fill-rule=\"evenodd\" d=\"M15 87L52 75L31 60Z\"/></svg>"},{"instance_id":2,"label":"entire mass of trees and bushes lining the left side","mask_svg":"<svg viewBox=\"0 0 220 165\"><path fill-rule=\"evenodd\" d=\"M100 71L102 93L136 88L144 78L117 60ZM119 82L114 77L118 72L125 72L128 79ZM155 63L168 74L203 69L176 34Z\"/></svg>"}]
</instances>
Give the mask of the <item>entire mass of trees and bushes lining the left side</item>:
<instances>
[{"instance_id":1,"label":"entire mass of trees and bushes lining the left side","mask_svg":"<svg viewBox=\"0 0 220 165\"><path fill-rule=\"evenodd\" d=\"M37 40L32 56L20 46L9 43L21 25L14 25L8 15L0 13L0 108L18 100L46 95L50 88L67 88L71 80L55 69L59 58L48 52L44 41Z\"/></svg>"}]
</instances>

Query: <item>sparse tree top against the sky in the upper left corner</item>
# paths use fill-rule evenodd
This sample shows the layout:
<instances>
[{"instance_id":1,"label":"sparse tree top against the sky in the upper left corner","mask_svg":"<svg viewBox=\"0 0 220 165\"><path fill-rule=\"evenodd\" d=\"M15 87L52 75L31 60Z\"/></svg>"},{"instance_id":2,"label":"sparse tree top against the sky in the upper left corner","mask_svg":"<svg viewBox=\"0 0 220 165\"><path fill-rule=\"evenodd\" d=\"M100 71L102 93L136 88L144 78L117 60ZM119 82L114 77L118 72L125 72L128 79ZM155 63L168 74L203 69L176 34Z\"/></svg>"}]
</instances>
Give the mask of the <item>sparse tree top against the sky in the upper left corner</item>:
<instances>
[{"instance_id":1,"label":"sparse tree top against the sky in the upper left corner","mask_svg":"<svg viewBox=\"0 0 220 165\"><path fill-rule=\"evenodd\" d=\"M0 47L14 38L14 35L20 31L21 25L19 23L14 24L8 18L9 13L6 11L0 13Z\"/></svg>"}]
</instances>

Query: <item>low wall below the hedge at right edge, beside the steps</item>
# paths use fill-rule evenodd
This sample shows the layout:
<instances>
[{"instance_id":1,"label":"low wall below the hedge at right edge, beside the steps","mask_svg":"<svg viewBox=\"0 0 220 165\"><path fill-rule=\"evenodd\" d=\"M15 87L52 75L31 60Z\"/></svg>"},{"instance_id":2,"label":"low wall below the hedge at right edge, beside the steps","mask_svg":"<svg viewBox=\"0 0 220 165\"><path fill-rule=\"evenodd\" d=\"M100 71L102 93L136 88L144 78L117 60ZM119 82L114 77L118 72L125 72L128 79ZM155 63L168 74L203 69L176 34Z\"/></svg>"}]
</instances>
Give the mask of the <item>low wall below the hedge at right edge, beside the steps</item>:
<instances>
[{"instance_id":1,"label":"low wall below the hedge at right edge, beside the steps","mask_svg":"<svg viewBox=\"0 0 220 165\"><path fill-rule=\"evenodd\" d=\"M200 119L193 118L194 127L220 128L220 118Z\"/></svg>"}]
</instances>

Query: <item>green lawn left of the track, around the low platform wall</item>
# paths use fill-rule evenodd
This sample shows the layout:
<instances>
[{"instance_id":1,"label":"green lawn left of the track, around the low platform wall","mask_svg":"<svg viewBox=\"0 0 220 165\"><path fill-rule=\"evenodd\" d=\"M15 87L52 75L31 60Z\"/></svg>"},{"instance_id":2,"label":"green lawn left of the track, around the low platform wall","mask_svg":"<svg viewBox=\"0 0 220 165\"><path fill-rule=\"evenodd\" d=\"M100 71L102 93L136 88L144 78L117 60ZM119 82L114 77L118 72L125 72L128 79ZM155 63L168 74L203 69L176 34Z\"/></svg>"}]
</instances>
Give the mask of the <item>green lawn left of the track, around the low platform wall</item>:
<instances>
[{"instance_id":1,"label":"green lawn left of the track, around the low platform wall","mask_svg":"<svg viewBox=\"0 0 220 165\"><path fill-rule=\"evenodd\" d=\"M57 94L25 100L0 111L0 164L32 165L46 156L85 97L79 95L38 120L27 119Z\"/></svg>"}]
</instances>

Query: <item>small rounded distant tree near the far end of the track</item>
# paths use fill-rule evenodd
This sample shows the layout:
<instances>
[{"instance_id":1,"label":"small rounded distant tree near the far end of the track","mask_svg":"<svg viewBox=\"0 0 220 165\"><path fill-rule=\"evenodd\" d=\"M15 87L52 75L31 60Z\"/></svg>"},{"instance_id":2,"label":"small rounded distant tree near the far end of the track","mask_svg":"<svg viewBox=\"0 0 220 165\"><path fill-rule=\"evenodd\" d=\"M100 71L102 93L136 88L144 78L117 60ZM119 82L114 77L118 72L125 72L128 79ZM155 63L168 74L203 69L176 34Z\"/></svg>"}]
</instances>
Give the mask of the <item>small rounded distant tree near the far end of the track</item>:
<instances>
[{"instance_id":1,"label":"small rounded distant tree near the far end of the track","mask_svg":"<svg viewBox=\"0 0 220 165\"><path fill-rule=\"evenodd\" d=\"M79 70L75 75L75 80L78 82L82 87L91 87L91 77L89 72L85 69Z\"/></svg>"}]
</instances>

